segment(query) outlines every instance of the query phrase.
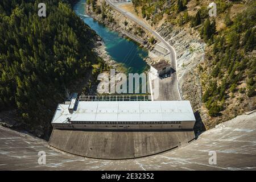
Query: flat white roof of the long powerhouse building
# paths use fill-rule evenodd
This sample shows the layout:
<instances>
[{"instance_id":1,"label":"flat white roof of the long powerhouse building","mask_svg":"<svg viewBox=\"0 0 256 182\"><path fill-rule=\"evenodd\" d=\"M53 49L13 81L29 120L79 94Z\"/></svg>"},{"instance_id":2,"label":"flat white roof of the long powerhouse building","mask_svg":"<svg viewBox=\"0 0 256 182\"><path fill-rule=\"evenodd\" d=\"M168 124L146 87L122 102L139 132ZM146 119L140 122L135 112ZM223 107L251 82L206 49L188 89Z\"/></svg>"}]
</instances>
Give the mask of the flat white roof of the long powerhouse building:
<instances>
[{"instance_id":1,"label":"flat white roof of the long powerhouse building","mask_svg":"<svg viewBox=\"0 0 256 182\"><path fill-rule=\"evenodd\" d=\"M69 114L57 107L53 123L71 121L195 121L189 101L79 101Z\"/></svg>"}]
</instances>

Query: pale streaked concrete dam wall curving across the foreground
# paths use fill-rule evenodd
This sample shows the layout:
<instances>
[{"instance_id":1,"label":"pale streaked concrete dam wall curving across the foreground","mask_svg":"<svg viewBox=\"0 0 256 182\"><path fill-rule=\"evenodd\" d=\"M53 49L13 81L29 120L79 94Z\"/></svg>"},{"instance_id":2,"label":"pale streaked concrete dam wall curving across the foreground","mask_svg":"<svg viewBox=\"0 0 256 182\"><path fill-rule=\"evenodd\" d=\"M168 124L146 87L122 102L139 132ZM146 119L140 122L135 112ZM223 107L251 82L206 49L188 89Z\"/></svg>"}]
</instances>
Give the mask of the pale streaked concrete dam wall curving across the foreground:
<instances>
[{"instance_id":1,"label":"pale streaked concrete dam wall curving across the foreground","mask_svg":"<svg viewBox=\"0 0 256 182\"><path fill-rule=\"evenodd\" d=\"M256 112L240 115L205 131L176 150L138 159L102 160L64 154L42 139L0 127L0 169L26 170L242 170L256 169ZM46 152L46 164L38 164L38 152ZM217 164L209 164L216 151Z\"/></svg>"}]
</instances>

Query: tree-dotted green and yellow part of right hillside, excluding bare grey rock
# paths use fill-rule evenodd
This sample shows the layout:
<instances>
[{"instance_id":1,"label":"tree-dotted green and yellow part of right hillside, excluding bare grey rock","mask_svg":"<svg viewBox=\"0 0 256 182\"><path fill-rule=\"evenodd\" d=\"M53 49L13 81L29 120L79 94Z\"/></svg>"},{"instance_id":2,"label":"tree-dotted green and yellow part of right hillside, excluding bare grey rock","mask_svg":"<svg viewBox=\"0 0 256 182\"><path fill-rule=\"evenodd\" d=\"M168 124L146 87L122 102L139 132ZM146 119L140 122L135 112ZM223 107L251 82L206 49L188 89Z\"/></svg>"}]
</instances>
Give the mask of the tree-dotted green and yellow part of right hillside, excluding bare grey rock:
<instances>
[{"instance_id":1,"label":"tree-dotted green and yellow part of right hillside, excluding bare grey rock","mask_svg":"<svg viewBox=\"0 0 256 182\"><path fill-rule=\"evenodd\" d=\"M210 117L218 117L225 110L226 115L234 117L244 111L243 107L247 107L249 100L255 101L256 3L214 1L216 17L208 15L209 3L198 0L133 0L133 7L152 26L165 22L200 33L201 41L207 43L205 61L198 67L204 106ZM250 106L253 107L255 105Z\"/></svg>"}]
</instances>

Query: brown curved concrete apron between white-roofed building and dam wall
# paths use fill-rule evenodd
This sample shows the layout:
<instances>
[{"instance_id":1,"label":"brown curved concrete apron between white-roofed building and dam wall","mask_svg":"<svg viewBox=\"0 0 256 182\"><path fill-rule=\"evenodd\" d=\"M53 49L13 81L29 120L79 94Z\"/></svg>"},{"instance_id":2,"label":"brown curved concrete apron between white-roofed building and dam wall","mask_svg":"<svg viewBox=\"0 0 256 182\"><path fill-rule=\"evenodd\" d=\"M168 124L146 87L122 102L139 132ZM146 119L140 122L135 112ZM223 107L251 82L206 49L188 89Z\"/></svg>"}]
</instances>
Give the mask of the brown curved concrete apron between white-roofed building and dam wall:
<instances>
[{"instance_id":1,"label":"brown curved concrete apron between white-roofed building and dam wall","mask_svg":"<svg viewBox=\"0 0 256 182\"><path fill-rule=\"evenodd\" d=\"M139 158L176 148L195 138L193 131L52 132L49 145L70 154L99 159Z\"/></svg>"}]
</instances>

